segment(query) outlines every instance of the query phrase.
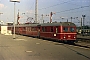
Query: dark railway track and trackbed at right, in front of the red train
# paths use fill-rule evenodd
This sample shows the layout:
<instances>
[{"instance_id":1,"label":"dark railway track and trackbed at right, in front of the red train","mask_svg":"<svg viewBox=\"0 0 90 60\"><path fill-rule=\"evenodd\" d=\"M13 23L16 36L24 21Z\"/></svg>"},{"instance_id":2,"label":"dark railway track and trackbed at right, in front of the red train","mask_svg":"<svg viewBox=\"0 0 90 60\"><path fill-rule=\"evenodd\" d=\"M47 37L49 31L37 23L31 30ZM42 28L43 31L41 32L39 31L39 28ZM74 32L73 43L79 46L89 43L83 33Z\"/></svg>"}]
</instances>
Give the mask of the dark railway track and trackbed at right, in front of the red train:
<instances>
[{"instance_id":1,"label":"dark railway track and trackbed at right, in front of the red train","mask_svg":"<svg viewBox=\"0 0 90 60\"><path fill-rule=\"evenodd\" d=\"M58 42L55 45L70 45L70 46L74 46L74 47L90 49L90 40L89 39L83 39L83 40L82 40L82 38L79 38L79 39L78 39L78 42L75 42L74 44L56 41L56 40L48 40L48 41Z\"/></svg>"}]
</instances>

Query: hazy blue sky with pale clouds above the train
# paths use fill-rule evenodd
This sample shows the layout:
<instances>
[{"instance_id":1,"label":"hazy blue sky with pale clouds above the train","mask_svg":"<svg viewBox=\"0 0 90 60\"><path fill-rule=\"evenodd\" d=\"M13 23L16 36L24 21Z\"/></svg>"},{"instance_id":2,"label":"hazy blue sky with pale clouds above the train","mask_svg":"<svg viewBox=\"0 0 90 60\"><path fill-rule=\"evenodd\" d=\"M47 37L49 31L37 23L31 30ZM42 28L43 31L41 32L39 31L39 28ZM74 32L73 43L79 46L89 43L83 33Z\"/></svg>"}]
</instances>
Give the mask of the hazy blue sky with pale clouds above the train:
<instances>
[{"instance_id":1,"label":"hazy blue sky with pale clouds above the train","mask_svg":"<svg viewBox=\"0 0 90 60\"><path fill-rule=\"evenodd\" d=\"M19 23L35 21L35 0L20 0L15 3L15 18L19 11ZM80 25L82 15L85 15L85 25L90 25L90 0L38 0L38 22L50 21L50 12L53 12L52 21L66 22L67 20ZM4 24L14 22L14 3L10 0L0 0L0 21ZM42 15L43 14L43 19ZM78 18L76 18L78 17ZM29 18L29 19L28 19ZM31 19L33 18L33 19ZM62 19L63 18L63 19Z\"/></svg>"}]
</instances>

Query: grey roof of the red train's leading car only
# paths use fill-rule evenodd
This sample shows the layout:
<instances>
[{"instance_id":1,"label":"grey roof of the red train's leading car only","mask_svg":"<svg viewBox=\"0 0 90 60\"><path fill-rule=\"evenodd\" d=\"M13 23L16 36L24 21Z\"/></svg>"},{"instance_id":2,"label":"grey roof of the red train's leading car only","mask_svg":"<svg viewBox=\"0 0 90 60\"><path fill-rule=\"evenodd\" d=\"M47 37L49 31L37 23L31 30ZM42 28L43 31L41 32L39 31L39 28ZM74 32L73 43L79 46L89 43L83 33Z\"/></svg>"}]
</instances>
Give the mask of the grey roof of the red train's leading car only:
<instances>
[{"instance_id":1,"label":"grey roof of the red train's leading car only","mask_svg":"<svg viewBox=\"0 0 90 60\"><path fill-rule=\"evenodd\" d=\"M58 22L58 23L44 23L40 24L39 26L76 26L72 22Z\"/></svg>"}]
</instances>

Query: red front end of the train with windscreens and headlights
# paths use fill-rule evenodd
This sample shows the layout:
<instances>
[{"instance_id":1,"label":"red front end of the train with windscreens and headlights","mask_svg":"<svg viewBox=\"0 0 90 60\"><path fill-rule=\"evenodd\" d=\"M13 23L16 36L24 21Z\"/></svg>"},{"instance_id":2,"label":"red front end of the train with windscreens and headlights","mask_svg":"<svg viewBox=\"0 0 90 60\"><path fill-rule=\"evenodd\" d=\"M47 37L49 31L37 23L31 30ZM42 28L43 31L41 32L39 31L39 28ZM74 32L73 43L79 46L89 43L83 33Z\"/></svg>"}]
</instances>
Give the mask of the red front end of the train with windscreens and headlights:
<instances>
[{"instance_id":1,"label":"red front end of the train with windscreens and headlights","mask_svg":"<svg viewBox=\"0 0 90 60\"><path fill-rule=\"evenodd\" d=\"M71 22L62 24L60 39L67 42L74 42L77 39L76 25Z\"/></svg>"}]
</instances>

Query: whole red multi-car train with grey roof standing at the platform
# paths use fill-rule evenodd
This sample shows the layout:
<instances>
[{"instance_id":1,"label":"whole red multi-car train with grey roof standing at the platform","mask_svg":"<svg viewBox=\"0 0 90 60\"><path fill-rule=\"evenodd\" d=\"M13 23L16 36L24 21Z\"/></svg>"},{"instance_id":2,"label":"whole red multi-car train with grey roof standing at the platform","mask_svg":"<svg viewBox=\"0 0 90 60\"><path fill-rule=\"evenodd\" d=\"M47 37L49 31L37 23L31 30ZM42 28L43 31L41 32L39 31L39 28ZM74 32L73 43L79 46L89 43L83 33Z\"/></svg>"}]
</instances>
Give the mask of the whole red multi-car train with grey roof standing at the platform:
<instances>
[{"instance_id":1,"label":"whole red multi-car train with grey roof standing at the platform","mask_svg":"<svg viewBox=\"0 0 90 60\"><path fill-rule=\"evenodd\" d=\"M8 30L13 32L13 26ZM15 33L67 42L74 42L77 38L76 25L71 22L16 25Z\"/></svg>"}]
</instances>

